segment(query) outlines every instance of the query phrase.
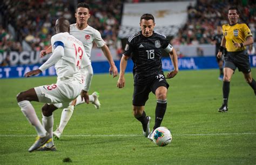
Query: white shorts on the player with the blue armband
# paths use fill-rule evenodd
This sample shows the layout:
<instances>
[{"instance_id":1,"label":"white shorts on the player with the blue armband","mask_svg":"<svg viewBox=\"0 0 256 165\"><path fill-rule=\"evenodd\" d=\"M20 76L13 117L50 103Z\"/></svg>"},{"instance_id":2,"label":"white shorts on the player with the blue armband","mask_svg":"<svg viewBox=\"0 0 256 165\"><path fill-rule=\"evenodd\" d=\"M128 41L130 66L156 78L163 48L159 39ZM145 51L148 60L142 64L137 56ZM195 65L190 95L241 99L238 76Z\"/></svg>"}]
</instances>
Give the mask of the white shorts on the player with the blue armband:
<instances>
[{"instance_id":1,"label":"white shorts on the player with the blue armband","mask_svg":"<svg viewBox=\"0 0 256 165\"><path fill-rule=\"evenodd\" d=\"M69 83L58 81L56 84L35 87L39 102L62 103L63 107L68 107L69 102L76 99L82 89L83 85L77 81Z\"/></svg>"}]
</instances>

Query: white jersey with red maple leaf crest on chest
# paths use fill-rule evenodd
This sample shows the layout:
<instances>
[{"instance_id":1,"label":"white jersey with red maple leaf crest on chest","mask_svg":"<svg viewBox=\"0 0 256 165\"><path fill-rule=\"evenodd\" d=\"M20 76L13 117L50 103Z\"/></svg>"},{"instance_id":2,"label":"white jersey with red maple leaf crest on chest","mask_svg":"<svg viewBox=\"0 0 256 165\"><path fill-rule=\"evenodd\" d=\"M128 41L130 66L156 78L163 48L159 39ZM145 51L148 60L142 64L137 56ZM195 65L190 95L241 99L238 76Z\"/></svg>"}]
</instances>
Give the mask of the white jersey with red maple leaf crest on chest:
<instances>
[{"instance_id":1,"label":"white jersey with red maple leaf crest on chest","mask_svg":"<svg viewBox=\"0 0 256 165\"><path fill-rule=\"evenodd\" d=\"M70 35L76 37L83 43L85 51L89 58L91 57L91 50L93 46L92 42L95 42L97 44L97 47L102 47L105 45L105 42L102 39L99 31L89 25L87 25L85 29L79 30L77 29L76 24L71 24Z\"/></svg>"}]
</instances>

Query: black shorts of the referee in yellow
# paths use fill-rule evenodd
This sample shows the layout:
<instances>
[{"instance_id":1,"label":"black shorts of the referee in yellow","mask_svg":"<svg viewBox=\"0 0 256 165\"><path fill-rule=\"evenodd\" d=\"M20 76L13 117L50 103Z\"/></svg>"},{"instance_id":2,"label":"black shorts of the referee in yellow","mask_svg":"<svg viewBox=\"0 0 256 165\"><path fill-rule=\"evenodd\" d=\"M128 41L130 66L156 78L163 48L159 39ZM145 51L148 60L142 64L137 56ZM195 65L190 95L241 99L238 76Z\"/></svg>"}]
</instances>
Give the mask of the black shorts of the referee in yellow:
<instances>
[{"instance_id":1,"label":"black shorts of the referee in yellow","mask_svg":"<svg viewBox=\"0 0 256 165\"><path fill-rule=\"evenodd\" d=\"M246 51L227 52L227 56L224 57L224 61L224 67L231 68L234 71L238 67L239 72L251 72L250 58Z\"/></svg>"}]
</instances>

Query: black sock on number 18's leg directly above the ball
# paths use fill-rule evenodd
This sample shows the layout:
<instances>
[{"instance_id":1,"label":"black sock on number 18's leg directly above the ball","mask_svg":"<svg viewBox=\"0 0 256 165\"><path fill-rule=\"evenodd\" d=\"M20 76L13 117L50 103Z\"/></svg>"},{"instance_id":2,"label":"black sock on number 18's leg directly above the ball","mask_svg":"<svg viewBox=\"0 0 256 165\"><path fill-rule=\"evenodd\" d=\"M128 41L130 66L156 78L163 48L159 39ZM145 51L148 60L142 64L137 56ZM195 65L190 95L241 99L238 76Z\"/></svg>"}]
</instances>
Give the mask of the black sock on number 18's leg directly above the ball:
<instances>
[{"instance_id":1,"label":"black sock on number 18's leg directly above the ball","mask_svg":"<svg viewBox=\"0 0 256 165\"><path fill-rule=\"evenodd\" d=\"M163 121L164 114L166 111L167 106L167 99L166 100L157 100L157 107L156 107L156 116L154 120L154 127L156 129L161 126L161 122Z\"/></svg>"}]
</instances>

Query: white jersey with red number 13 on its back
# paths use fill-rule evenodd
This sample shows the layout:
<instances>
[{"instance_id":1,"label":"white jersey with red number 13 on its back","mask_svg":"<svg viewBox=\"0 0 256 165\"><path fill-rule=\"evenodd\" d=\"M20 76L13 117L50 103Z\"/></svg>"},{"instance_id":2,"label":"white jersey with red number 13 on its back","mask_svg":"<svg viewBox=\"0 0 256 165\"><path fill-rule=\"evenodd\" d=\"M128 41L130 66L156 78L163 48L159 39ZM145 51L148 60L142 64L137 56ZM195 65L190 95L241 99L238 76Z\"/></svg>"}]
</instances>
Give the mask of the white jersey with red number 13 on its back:
<instances>
[{"instance_id":1,"label":"white jersey with red number 13 on its back","mask_svg":"<svg viewBox=\"0 0 256 165\"><path fill-rule=\"evenodd\" d=\"M58 33L51 38L52 52L56 42L64 44L64 56L55 64L58 81L82 81L80 68L91 64L83 43L68 32Z\"/></svg>"}]
</instances>

